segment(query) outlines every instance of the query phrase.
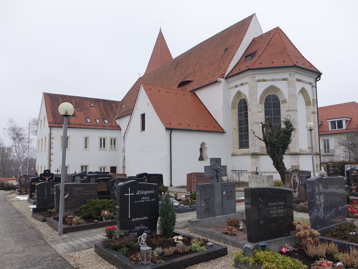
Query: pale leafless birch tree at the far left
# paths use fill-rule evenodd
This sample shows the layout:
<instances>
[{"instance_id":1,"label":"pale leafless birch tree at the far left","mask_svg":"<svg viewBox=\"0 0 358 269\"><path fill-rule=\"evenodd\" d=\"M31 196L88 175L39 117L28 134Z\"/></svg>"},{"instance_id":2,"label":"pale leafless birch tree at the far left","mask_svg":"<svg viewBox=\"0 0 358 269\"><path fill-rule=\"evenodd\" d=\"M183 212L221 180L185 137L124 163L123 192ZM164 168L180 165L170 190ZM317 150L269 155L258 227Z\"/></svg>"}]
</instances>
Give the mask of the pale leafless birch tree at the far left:
<instances>
[{"instance_id":1,"label":"pale leafless birch tree at the far left","mask_svg":"<svg viewBox=\"0 0 358 269\"><path fill-rule=\"evenodd\" d=\"M18 165L23 170L23 159L29 146L28 136L24 127L19 126L14 119L9 119L8 127L4 128L4 135L10 139Z\"/></svg>"}]
</instances>

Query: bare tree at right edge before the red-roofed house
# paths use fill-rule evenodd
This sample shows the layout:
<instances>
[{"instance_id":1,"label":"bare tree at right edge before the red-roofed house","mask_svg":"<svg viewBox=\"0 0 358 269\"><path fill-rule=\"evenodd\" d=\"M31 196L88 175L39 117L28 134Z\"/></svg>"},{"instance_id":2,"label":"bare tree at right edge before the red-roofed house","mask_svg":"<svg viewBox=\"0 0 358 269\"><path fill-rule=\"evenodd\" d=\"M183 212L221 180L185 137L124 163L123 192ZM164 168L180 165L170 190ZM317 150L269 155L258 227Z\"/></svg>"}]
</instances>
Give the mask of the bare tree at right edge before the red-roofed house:
<instances>
[{"instance_id":1,"label":"bare tree at right edge before the red-roofed house","mask_svg":"<svg viewBox=\"0 0 358 269\"><path fill-rule=\"evenodd\" d=\"M336 141L336 148L342 148L335 153L343 161L358 162L358 129L343 133Z\"/></svg>"}]
</instances>

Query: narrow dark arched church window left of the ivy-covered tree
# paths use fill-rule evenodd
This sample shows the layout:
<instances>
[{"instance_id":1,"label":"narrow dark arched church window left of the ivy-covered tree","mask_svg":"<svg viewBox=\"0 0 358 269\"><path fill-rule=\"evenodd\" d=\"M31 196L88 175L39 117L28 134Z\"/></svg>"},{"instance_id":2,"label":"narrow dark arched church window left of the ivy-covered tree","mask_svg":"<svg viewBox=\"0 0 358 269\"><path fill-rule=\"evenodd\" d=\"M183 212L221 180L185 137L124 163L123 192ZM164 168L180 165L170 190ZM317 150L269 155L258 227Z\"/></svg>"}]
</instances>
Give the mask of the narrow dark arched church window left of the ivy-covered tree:
<instances>
[{"instance_id":1,"label":"narrow dark arched church window left of the ivy-covered tree","mask_svg":"<svg viewBox=\"0 0 358 269\"><path fill-rule=\"evenodd\" d=\"M247 102L242 98L237 105L239 148L248 148Z\"/></svg>"}]
</instances>

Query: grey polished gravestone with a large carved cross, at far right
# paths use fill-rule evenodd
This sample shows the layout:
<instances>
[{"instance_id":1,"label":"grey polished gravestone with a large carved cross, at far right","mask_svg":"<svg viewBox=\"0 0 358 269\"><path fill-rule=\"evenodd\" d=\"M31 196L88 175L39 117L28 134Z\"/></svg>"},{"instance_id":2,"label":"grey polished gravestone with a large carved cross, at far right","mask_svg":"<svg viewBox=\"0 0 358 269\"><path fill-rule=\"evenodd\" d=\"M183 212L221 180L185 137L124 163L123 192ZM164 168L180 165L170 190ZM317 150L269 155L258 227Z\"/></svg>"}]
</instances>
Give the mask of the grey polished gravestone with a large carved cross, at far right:
<instances>
[{"instance_id":1,"label":"grey polished gravestone with a large carved cross, at far right","mask_svg":"<svg viewBox=\"0 0 358 269\"><path fill-rule=\"evenodd\" d=\"M343 177L312 177L306 180L311 228L320 229L347 217Z\"/></svg>"}]
</instances>

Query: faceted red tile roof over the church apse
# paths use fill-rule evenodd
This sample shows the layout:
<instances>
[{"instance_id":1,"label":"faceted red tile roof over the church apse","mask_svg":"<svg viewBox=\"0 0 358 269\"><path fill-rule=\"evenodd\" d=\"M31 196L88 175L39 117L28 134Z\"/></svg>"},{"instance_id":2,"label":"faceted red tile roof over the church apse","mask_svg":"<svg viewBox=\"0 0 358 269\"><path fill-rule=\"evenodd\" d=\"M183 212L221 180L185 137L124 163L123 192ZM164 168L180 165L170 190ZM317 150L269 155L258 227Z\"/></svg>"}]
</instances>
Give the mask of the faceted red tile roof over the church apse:
<instances>
[{"instance_id":1,"label":"faceted red tile roof over the church apse","mask_svg":"<svg viewBox=\"0 0 358 269\"><path fill-rule=\"evenodd\" d=\"M255 51L256 53L251 60L245 62L245 57ZM281 66L299 66L319 72L316 67L303 57L286 34L279 27L276 27L254 38L227 76L235 75L248 69Z\"/></svg>"}]
</instances>

